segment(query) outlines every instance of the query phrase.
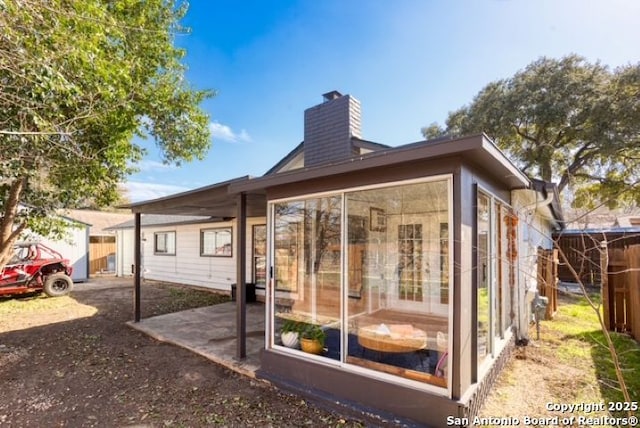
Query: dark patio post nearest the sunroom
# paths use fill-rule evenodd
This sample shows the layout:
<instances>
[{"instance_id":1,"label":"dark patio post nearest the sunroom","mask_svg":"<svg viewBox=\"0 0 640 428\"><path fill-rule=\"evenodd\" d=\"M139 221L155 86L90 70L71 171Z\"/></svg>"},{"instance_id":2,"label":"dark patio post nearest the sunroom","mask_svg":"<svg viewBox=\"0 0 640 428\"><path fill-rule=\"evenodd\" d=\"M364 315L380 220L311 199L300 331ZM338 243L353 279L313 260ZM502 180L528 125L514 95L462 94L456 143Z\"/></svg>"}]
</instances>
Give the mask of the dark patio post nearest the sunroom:
<instances>
[{"instance_id":1,"label":"dark patio post nearest the sunroom","mask_svg":"<svg viewBox=\"0 0 640 428\"><path fill-rule=\"evenodd\" d=\"M236 357L247 356L247 290L246 290L246 257L247 257L247 195L240 193L236 215L236 242L238 256L236 258Z\"/></svg>"}]
</instances>

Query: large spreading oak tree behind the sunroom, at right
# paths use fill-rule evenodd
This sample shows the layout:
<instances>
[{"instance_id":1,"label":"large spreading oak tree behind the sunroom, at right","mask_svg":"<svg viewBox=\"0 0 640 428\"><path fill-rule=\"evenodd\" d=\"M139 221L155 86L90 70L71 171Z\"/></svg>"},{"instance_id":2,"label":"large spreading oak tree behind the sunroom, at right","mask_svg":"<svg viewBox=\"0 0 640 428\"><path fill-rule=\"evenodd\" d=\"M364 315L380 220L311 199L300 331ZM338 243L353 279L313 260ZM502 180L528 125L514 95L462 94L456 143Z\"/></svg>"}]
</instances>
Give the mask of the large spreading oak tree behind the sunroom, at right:
<instances>
[{"instance_id":1,"label":"large spreading oak tree behind the sunroom, at right","mask_svg":"<svg viewBox=\"0 0 640 428\"><path fill-rule=\"evenodd\" d=\"M484 132L576 206L640 203L640 63L610 71L577 55L540 58L491 82L426 138Z\"/></svg>"}]
</instances>

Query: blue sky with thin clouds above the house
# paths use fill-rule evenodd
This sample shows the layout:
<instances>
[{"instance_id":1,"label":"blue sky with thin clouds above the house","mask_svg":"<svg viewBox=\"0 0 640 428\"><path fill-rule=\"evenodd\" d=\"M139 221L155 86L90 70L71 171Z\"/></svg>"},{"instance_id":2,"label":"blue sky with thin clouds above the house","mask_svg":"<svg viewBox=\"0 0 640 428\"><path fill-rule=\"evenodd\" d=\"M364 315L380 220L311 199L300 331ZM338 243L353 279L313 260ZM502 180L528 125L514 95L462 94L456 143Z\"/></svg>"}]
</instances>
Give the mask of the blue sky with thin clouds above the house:
<instances>
[{"instance_id":1,"label":"blue sky with thin clouds above the house","mask_svg":"<svg viewBox=\"0 0 640 428\"><path fill-rule=\"evenodd\" d=\"M487 83L541 56L611 68L640 61L637 0L192 0L187 77L217 91L203 108L203 161L163 165L151 142L131 201L259 176L303 138L303 112L337 90L362 104L363 138L422 139Z\"/></svg>"}]
</instances>

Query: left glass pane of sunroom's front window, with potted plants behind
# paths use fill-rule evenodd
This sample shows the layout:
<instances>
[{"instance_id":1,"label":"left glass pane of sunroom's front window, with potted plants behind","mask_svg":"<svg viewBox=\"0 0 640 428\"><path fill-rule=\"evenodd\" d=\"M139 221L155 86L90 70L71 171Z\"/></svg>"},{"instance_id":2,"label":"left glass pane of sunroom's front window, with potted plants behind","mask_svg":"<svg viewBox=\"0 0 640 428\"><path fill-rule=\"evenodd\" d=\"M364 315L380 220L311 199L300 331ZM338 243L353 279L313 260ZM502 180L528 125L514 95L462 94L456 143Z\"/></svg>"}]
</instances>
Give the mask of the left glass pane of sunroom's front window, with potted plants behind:
<instances>
[{"instance_id":1,"label":"left glass pane of sunroom's front window, with potted plants behind","mask_svg":"<svg viewBox=\"0 0 640 428\"><path fill-rule=\"evenodd\" d=\"M341 198L274 205L275 331L292 347L341 358ZM276 341L286 339L276 338Z\"/></svg>"}]
</instances>

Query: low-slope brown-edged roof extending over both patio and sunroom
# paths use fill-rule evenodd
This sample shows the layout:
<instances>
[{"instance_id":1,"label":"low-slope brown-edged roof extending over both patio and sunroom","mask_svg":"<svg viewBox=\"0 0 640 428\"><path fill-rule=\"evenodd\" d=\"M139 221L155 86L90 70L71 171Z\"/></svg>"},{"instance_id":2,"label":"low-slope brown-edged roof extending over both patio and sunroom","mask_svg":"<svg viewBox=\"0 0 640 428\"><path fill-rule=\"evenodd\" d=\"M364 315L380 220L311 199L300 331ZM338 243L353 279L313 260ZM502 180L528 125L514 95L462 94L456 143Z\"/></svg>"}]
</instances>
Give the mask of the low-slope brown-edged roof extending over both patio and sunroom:
<instances>
[{"instance_id":1,"label":"low-slope brown-edged roof extending over both patio and sunroom","mask_svg":"<svg viewBox=\"0 0 640 428\"><path fill-rule=\"evenodd\" d=\"M364 141L364 140L363 140ZM373 144L360 142L361 144ZM246 197L246 215L266 215L266 190L276 186L296 186L299 183L340 177L346 173L371 172L379 167L391 168L421 160L455 157L472 165L502 183L507 189L530 188L531 181L522 173L489 138L477 134L456 139L418 141L399 147L379 149L370 153L314 167L298 168L262 177L239 177L222 183L189 190L163 198L136 202L129 205L134 212L147 214L195 215L209 214L236 217L241 196ZM215 221L215 220L210 220ZM201 222L201 221L200 221ZM169 224L169 223L163 223ZM133 227L133 226L131 226Z\"/></svg>"}]
</instances>

